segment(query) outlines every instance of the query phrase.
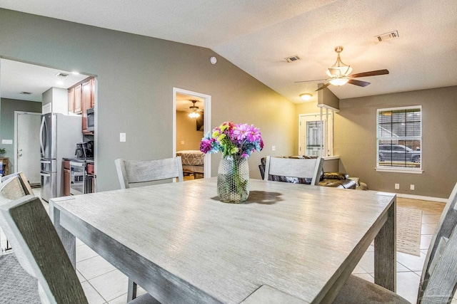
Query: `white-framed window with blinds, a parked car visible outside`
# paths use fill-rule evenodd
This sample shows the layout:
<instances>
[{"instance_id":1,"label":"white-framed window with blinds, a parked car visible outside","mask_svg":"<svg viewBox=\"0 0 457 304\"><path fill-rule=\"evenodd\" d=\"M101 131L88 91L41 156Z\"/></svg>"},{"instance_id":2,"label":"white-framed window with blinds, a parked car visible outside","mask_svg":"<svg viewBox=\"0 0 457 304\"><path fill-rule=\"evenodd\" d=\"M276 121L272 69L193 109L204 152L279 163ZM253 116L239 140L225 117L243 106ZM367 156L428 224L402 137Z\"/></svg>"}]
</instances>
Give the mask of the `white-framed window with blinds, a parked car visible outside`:
<instances>
[{"instance_id":1,"label":"white-framed window with blinds, a parked car visible outside","mask_svg":"<svg viewBox=\"0 0 457 304\"><path fill-rule=\"evenodd\" d=\"M378 171L421 173L420 106L378 110Z\"/></svg>"}]
</instances>

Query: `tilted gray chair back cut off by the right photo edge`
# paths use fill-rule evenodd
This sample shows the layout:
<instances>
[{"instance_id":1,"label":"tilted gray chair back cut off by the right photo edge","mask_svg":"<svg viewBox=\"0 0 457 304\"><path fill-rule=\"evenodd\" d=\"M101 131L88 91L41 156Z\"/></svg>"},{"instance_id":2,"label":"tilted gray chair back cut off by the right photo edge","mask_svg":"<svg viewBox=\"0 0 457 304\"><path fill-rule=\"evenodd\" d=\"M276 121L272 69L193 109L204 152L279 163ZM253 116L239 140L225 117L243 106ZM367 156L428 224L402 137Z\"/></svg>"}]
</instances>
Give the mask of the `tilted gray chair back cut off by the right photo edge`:
<instances>
[{"instance_id":1,"label":"tilted gray chair back cut off by the right photo edge","mask_svg":"<svg viewBox=\"0 0 457 304\"><path fill-rule=\"evenodd\" d=\"M420 303L448 303L457 288L457 184L441 214L423 266Z\"/></svg>"}]
</instances>

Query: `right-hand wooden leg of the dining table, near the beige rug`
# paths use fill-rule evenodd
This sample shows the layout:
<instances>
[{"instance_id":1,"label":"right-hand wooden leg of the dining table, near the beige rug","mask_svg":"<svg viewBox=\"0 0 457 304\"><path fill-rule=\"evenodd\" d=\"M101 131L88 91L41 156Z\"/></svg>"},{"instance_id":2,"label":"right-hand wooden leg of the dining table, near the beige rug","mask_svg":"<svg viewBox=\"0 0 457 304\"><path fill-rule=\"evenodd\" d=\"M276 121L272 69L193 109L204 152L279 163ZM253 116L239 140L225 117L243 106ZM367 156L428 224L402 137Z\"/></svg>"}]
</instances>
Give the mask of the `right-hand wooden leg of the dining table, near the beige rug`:
<instances>
[{"instance_id":1,"label":"right-hand wooden leg of the dining table, near the beige rug","mask_svg":"<svg viewBox=\"0 0 457 304\"><path fill-rule=\"evenodd\" d=\"M374 283L396 292L396 196L374 239Z\"/></svg>"}]
</instances>

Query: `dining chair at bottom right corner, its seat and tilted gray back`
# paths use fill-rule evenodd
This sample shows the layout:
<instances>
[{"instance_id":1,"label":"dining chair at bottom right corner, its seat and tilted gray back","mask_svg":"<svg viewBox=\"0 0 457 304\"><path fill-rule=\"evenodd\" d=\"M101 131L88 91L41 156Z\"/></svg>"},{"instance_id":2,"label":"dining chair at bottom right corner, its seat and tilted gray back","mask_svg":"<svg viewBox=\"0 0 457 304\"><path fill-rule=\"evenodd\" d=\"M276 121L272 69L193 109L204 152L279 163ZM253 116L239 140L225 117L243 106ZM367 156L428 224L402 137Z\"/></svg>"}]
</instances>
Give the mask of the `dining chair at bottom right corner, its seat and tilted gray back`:
<instances>
[{"instance_id":1,"label":"dining chair at bottom right corner, its seat and tilted gray back","mask_svg":"<svg viewBox=\"0 0 457 304\"><path fill-rule=\"evenodd\" d=\"M451 303L457 288L457 184L441 214L423 265L417 303ZM409 303L400 295L350 276L333 303Z\"/></svg>"}]
</instances>

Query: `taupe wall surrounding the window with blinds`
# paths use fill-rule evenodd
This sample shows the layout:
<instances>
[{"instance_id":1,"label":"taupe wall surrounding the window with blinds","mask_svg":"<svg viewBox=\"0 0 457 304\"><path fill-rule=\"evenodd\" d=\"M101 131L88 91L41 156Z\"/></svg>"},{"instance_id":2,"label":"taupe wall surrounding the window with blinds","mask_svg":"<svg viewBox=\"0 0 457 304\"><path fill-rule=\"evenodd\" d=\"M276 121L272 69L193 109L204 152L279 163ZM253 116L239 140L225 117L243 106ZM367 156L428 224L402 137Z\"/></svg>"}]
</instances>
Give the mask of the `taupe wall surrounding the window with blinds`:
<instances>
[{"instance_id":1,"label":"taupe wall surrounding the window with blinds","mask_svg":"<svg viewBox=\"0 0 457 304\"><path fill-rule=\"evenodd\" d=\"M376 172L376 110L422 105L423 174ZM447 198L457 182L457 87L340 100L334 154L368 189ZM394 189L394 184L400 189ZM411 191L410 184L415 185Z\"/></svg>"}]
</instances>

